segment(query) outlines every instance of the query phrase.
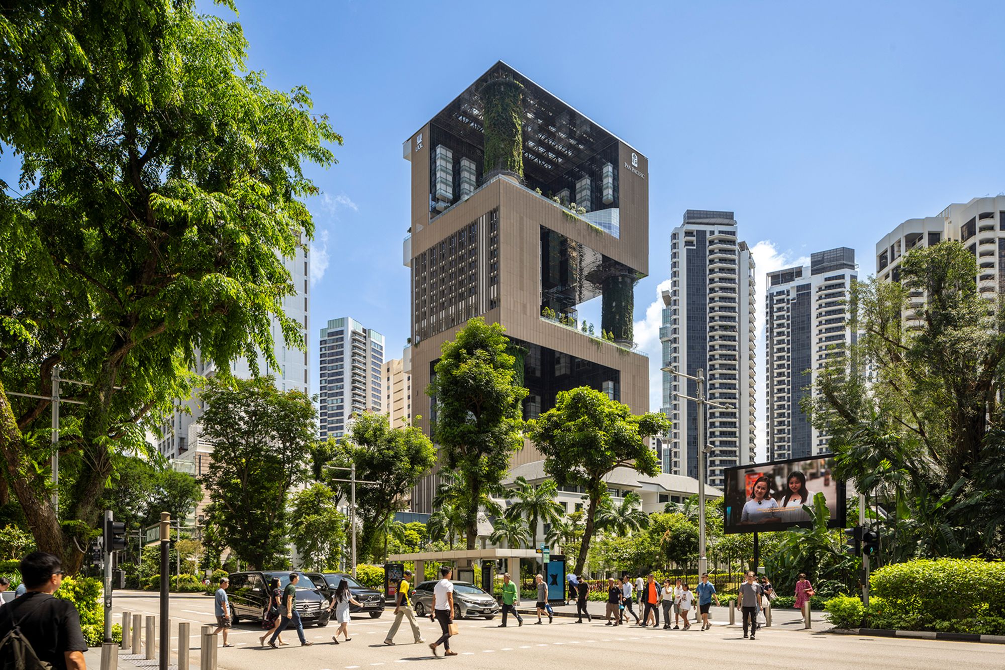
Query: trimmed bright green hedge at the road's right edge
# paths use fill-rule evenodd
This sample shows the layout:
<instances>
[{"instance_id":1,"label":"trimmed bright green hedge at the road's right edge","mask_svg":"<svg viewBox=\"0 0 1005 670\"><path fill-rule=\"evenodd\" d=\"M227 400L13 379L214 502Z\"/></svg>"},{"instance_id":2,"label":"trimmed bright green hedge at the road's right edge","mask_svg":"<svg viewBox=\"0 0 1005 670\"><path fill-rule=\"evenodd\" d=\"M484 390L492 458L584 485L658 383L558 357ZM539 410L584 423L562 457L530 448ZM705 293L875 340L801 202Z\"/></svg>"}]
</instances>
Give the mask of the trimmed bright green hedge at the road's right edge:
<instances>
[{"instance_id":1,"label":"trimmed bright green hedge at the road's right edge","mask_svg":"<svg viewBox=\"0 0 1005 670\"><path fill-rule=\"evenodd\" d=\"M879 628L1005 635L1005 563L978 559L920 560L884 566L857 597L827 601L837 628Z\"/></svg>"}]
</instances>

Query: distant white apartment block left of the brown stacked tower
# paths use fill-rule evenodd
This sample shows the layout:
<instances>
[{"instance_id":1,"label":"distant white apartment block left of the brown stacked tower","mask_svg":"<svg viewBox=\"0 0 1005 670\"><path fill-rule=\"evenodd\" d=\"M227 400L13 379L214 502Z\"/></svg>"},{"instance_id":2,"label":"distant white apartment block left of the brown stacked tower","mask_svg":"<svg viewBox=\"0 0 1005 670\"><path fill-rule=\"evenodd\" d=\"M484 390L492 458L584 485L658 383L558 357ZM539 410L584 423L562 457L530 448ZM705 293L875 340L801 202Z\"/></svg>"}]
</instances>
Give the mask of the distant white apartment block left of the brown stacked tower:
<instances>
[{"instance_id":1,"label":"distant white apartment block left of the brown stacked tower","mask_svg":"<svg viewBox=\"0 0 1005 670\"><path fill-rule=\"evenodd\" d=\"M355 318L321 329L321 439L343 437L350 417L384 408L384 336Z\"/></svg>"}]
</instances>

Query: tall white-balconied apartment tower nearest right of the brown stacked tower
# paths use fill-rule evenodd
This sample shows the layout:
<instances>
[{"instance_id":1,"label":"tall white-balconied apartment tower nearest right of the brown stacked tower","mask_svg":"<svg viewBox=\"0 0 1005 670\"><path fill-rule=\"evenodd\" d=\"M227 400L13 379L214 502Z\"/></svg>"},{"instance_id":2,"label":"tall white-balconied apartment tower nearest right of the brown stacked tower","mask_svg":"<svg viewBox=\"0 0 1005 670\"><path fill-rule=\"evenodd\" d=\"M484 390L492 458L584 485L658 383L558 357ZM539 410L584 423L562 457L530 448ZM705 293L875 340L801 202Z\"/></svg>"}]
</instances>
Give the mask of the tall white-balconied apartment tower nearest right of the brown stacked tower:
<instances>
[{"instance_id":1,"label":"tall white-balconied apartment tower nearest right of the brown stacked tower","mask_svg":"<svg viewBox=\"0 0 1005 670\"><path fill-rule=\"evenodd\" d=\"M737 240L733 212L687 210L670 235L670 289L659 329L664 365L695 376L703 370L710 400L708 483L724 485L724 468L754 460L754 258ZM691 380L663 373L662 412L673 422L663 471L697 476L697 408Z\"/></svg>"}]
</instances>

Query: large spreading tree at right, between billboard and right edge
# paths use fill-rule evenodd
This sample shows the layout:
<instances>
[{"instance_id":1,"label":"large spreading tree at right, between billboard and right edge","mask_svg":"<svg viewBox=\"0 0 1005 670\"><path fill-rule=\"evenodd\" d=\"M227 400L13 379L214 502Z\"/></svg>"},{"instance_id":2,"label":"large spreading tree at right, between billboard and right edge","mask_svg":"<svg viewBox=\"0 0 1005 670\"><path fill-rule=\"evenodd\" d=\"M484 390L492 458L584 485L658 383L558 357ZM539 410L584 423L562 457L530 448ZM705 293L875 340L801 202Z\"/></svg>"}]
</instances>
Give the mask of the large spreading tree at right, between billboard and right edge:
<instances>
[{"instance_id":1,"label":"large spreading tree at right, between billboard and right edge","mask_svg":"<svg viewBox=\"0 0 1005 670\"><path fill-rule=\"evenodd\" d=\"M977 273L948 241L907 254L900 283L857 284L851 327L862 334L807 404L833 436L835 474L885 506L873 515L889 559L1001 555L1005 519L985 511L1001 487L984 466L1001 458L1005 309L982 297Z\"/></svg>"}]
</instances>

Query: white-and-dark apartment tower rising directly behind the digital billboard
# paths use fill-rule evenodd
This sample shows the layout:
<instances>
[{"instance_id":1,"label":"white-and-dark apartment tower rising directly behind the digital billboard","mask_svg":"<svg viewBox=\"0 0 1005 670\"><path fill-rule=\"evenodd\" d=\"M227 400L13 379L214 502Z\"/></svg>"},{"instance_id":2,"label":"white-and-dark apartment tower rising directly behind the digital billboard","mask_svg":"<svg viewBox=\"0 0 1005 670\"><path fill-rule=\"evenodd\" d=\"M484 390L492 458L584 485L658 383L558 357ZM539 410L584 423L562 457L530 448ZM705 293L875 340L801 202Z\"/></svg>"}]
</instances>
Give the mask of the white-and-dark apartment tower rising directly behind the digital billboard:
<instances>
[{"instance_id":1,"label":"white-and-dark apartment tower rising directly behind the digital billboard","mask_svg":"<svg viewBox=\"0 0 1005 670\"><path fill-rule=\"evenodd\" d=\"M810 264L767 276L764 339L768 390L768 458L785 460L829 451L801 403L830 359L844 356L850 327L855 250L818 251Z\"/></svg>"}]
</instances>

